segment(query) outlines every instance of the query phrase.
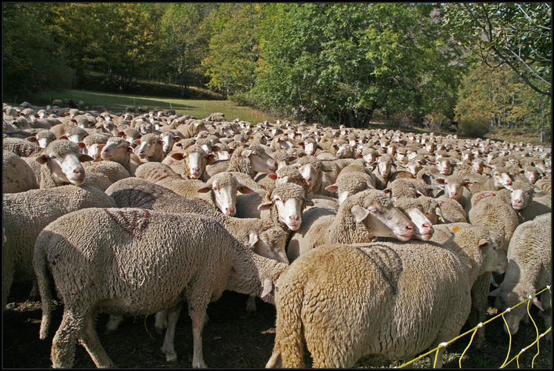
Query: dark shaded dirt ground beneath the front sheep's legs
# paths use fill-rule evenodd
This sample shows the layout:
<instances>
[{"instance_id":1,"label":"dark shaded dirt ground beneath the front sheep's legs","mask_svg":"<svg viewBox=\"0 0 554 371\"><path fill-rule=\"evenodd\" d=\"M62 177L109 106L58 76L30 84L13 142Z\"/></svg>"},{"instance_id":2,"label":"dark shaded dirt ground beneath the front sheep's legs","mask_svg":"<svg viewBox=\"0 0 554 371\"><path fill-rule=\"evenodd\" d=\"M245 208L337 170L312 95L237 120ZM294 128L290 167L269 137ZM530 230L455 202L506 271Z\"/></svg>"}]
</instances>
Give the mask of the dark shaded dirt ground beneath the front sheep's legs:
<instances>
[{"instance_id":1,"label":"dark shaded dirt ground beneath the front sheep's legs","mask_svg":"<svg viewBox=\"0 0 554 371\"><path fill-rule=\"evenodd\" d=\"M12 287L14 293L8 300L3 313L3 368L50 368L50 347L52 338L60 325L63 307L55 305L53 322L48 338L39 340L39 327L42 311L40 302L28 300L25 292L30 287ZM204 327L204 361L210 368L264 368L275 338L275 309L257 300L256 314L247 314L247 296L225 291L222 298L208 306L209 321ZM536 314L532 311L532 314ZM494 312L490 313L490 317ZM539 331L544 331L542 318L535 315ZM181 311L175 334L175 350L179 359L167 363L160 347L163 336L154 330L154 316L125 318L116 332L105 334L107 314L98 317L97 329L100 342L118 368L191 368L193 356L193 335L190 317L186 309ZM487 338L481 350L470 347L465 354L463 368L498 368L506 359L509 337L502 330L501 318L494 320L487 328ZM463 329L465 332L467 329ZM444 368L458 368L458 359L469 343L470 336L461 338L447 347L447 360ZM536 331L532 323L521 324L517 334L512 336L510 359L521 348L533 342ZM534 368L551 369L552 345L544 339L539 343L539 355ZM534 345L519 359L520 368L530 368L537 354ZM310 367L309 354L305 361ZM407 361L407 360L406 360ZM388 367L401 365L395 362ZM89 354L81 345L76 346L74 368L95 368ZM358 368L370 367L361 359ZM428 357L415 363L413 368L431 368ZM517 368L513 361L507 368Z\"/></svg>"}]
</instances>

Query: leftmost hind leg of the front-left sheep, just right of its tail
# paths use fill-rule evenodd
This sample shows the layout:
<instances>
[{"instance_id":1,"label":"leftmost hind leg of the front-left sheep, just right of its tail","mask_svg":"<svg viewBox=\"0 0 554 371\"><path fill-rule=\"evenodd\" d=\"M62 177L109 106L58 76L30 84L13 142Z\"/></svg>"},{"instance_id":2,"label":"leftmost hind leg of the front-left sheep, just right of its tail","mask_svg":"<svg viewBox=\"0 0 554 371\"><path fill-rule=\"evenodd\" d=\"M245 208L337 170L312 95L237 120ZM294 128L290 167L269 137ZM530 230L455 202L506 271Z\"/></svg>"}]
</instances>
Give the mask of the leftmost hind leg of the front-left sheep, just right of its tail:
<instances>
[{"instance_id":1,"label":"leftmost hind leg of the front-left sheep, just right of its tail","mask_svg":"<svg viewBox=\"0 0 554 371\"><path fill-rule=\"evenodd\" d=\"M70 309L64 310L62 323L52 340L50 359L53 368L71 368L75 358L77 333L84 328L85 319L75 316Z\"/></svg>"}]
</instances>

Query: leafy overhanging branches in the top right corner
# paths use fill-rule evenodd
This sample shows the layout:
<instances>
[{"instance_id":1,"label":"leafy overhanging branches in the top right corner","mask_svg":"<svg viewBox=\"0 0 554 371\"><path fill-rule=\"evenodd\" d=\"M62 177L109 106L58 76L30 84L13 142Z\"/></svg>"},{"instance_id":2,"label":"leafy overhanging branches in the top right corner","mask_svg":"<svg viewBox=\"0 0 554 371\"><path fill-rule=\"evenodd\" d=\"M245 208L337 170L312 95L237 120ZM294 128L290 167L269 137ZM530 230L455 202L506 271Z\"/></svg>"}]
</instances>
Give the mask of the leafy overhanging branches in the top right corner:
<instances>
[{"instance_id":1,"label":"leafy overhanging branches in the top right corner","mask_svg":"<svg viewBox=\"0 0 554 371\"><path fill-rule=\"evenodd\" d=\"M552 96L550 3L449 3L447 26L488 66L507 64L537 93Z\"/></svg>"}]
</instances>

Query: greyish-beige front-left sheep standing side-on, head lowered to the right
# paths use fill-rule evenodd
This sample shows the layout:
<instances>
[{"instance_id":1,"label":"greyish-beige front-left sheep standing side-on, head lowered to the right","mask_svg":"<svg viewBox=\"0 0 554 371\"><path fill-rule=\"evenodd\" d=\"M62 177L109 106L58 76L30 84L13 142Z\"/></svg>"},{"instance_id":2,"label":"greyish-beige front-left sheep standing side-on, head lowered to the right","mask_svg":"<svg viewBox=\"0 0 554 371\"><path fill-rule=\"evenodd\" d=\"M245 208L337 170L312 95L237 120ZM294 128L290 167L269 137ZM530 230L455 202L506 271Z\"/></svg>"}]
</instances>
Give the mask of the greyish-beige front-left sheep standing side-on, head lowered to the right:
<instances>
[{"instance_id":1,"label":"greyish-beige front-left sheep standing side-on, head lowered to the right","mask_svg":"<svg viewBox=\"0 0 554 371\"><path fill-rule=\"evenodd\" d=\"M206 368L202 327L208 302L225 289L271 302L274 277L287 266L253 253L208 217L140 208L89 208L60 217L37 238L33 264L42 298L41 339L51 322L48 271L64 302L51 350L54 368L71 367L76 338L97 367L114 367L93 328L104 311L146 315L168 308L161 350L168 361L175 360L173 337L183 299L193 320L192 365Z\"/></svg>"}]
</instances>

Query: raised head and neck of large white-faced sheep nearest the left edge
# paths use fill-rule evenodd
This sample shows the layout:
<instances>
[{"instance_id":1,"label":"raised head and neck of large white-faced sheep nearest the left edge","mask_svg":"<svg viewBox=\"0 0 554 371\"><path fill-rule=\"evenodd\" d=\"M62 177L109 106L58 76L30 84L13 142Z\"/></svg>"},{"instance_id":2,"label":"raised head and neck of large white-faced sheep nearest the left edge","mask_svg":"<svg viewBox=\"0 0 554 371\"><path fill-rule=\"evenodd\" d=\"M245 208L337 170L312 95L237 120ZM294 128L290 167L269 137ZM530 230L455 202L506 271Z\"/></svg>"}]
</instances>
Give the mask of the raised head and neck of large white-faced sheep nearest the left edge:
<instances>
[{"instance_id":1,"label":"raised head and neck of large white-faced sheep nearest the left edge","mask_svg":"<svg viewBox=\"0 0 554 371\"><path fill-rule=\"evenodd\" d=\"M85 173L81 162L92 161L92 157L80 153L77 143L57 139L44 148L43 154L36 160L42 165L40 179L37 179L40 188L52 188L64 183L84 183Z\"/></svg>"}]
</instances>

